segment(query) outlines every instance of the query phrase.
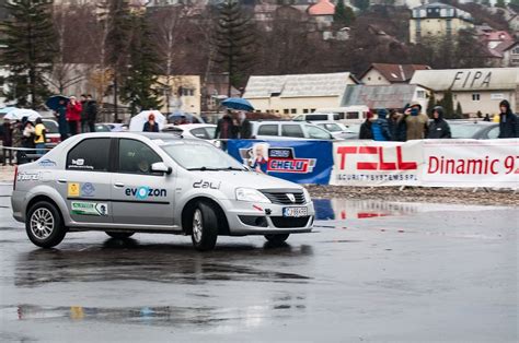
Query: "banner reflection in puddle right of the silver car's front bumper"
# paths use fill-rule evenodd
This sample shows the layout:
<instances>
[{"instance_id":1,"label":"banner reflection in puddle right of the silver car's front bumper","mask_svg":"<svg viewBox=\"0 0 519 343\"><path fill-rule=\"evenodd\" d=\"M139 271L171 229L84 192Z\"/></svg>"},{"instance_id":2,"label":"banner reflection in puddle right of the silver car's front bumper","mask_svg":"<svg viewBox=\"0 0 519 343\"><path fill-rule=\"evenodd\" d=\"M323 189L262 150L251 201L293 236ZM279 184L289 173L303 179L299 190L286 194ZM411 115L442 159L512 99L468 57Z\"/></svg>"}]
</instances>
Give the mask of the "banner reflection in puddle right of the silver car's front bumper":
<instances>
[{"instance_id":1,"label":"banner reflection in puddle right of the silver car's front bumper","mask_svg":"<svg viewBox=\"0 0 519 343\"><path fill-rule=\"evenodd\" d=\"M419 212L416 203L382 200L314 199L318 221L362 220L410 215Z\"/></svg>"}]
</instances>

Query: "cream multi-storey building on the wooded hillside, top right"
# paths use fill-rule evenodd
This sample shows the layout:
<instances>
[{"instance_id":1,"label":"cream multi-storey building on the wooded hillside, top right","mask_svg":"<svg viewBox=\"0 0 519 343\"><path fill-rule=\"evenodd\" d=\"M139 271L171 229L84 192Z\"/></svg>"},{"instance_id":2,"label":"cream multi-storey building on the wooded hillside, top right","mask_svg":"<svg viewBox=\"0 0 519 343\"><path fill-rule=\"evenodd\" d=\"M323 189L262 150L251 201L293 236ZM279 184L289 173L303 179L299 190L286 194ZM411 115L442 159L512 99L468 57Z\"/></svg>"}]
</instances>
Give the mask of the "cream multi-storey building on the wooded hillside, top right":
<instances>
[{"instance_id":1,"label":"cream multi-storey building on the wooded hillside, top right","mask_svg":"<svg viewBox=\"0 0 519 343\"><path fill-rule=\"evenodd\" d=\"M470 13L441 2L424 4L412 10L410 42L423 38L455 35L460 29L473 28Z\"/></svg>"}]
</instances>

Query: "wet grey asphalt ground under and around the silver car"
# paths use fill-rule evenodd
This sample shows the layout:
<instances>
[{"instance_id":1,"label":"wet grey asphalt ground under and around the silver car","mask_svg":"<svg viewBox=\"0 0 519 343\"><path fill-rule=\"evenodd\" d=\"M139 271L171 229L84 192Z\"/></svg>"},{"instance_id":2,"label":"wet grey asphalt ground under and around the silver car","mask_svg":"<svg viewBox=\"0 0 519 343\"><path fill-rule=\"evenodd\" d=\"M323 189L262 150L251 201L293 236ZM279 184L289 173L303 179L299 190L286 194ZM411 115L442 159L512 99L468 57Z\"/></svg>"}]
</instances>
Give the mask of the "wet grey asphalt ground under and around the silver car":
<instances>
[{"instance_id":1,"label":"wet grey asphalt ground under and around the silver car","mask_svg":"<svg viewBox=\"0 0 519 343\"><path fill-rule=\"evenodd\" d=\"M72 233L39 249L0 186L0 341L518 340L517 209L319 200L312 234Z\"/></svg>"}]
</instances>

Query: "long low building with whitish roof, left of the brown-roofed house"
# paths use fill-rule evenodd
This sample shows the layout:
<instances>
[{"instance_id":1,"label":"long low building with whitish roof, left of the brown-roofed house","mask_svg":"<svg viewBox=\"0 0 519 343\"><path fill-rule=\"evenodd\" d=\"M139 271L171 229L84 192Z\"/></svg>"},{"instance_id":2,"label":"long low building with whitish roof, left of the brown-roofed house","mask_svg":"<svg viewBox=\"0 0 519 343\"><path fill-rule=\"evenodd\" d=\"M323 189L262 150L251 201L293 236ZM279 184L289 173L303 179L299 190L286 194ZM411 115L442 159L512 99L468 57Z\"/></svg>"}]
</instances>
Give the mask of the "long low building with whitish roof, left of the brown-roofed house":
<instances>
[{"instance_id":1,"label":"long low building with whitish roof, left of the brown-roofed house","mask_svg":"<svg viewBox=\"0 0 519 343\"><path fill-rule=\"evenodd\" d=\"M349 72L251 76L243 97L257 111L288 117L339 107L346 86L358 83Z\"/></svg>"}]
</instances>

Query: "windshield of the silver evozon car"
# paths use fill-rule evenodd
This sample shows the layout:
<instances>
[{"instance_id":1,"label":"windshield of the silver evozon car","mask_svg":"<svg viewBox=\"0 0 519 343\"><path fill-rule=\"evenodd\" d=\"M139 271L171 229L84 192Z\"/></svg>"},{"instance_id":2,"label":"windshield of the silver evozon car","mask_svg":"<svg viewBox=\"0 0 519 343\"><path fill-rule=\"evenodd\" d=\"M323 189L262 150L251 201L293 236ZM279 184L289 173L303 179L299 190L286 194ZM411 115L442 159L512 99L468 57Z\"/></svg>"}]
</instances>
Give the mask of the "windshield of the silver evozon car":
<instances>
[{"instance_id":1,"label":"windshield of the silver evozon car","mask_svg":"<svg viewBox=\"0 0 519 343\"><path fill-rule=\"evenodd\" d=\"M188 170L245 170L238 161L212 145L174 143L161 147Z\"/></svg>"}]
</instances>

